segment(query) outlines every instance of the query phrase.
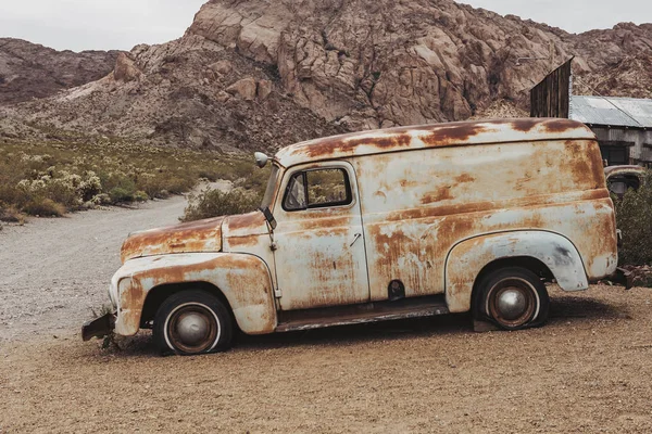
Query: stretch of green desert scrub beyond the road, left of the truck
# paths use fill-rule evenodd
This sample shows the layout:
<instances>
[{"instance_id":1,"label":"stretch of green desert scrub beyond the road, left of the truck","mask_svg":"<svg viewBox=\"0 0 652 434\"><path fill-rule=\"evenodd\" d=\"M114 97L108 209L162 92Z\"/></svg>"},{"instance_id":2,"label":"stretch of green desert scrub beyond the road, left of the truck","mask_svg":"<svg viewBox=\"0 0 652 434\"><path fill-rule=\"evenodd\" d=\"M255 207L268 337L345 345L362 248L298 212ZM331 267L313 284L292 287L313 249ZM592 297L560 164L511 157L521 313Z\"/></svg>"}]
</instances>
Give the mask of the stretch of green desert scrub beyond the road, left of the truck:
<instances>
[{"instance_id":1,"label":"stretch of green desert scrub beyond the road, left of the truck","mask_svg":"<svg viewBox=\"0 0 652 434\"><path fill-rule=\"evenodd\" d=\"M0 219L62 216L98 205L123 204L189 191L200 179L256 182L242 156L154 148L122 139L58 137L0 140Z\"/></svg>"}]
</instances>

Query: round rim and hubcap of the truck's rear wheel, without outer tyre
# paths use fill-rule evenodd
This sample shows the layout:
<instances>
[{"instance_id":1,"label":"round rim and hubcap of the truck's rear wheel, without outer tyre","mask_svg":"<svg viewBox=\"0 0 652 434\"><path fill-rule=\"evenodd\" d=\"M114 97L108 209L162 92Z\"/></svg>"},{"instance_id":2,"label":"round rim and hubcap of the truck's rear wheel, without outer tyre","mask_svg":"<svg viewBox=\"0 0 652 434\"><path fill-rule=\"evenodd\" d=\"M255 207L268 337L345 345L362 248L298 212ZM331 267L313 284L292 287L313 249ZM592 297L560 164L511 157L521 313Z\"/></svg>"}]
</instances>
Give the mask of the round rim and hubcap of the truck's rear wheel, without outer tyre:
<instances>
[{"instance_id":1,"label":"round rim and hubcap of the truck's rear wheel, without outer tyre","mask_svg":"<svg viewBox=\"0 0 652 434\"><path fill-rule=\"evenodd\" d=\"M506 328L525 326L539 312L537 290L523 279L501 280L489 291L487 312L500 326Z\"/></svg>"}]
</instances>

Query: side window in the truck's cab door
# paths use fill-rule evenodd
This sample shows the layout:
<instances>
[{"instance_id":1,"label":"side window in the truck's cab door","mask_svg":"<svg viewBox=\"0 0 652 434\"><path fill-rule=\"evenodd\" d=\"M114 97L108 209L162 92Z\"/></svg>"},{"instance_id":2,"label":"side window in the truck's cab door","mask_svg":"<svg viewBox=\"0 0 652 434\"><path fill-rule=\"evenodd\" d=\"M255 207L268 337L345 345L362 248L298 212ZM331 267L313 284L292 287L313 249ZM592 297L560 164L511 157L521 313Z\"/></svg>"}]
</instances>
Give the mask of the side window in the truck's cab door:
<instances>
[{"instance_id":1,"label":"side window in the truck's cab door","mask_svg":"<svg viewBox=\"0 0 652 434\"><path fill-rule=\"evenodd\" d=\"M292 175L286 189L285 210L348 205L352 201L347 170L319 168Z\"/></svg>"}]
</instances>

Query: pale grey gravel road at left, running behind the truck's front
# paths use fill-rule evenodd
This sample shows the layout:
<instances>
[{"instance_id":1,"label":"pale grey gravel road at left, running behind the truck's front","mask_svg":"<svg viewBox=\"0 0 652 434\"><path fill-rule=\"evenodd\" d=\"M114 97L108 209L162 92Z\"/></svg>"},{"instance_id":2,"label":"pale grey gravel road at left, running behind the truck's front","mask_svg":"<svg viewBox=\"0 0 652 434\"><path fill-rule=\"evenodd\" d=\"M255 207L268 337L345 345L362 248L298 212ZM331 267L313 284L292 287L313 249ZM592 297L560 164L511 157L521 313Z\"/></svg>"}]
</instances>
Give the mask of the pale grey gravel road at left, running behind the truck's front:
<instances>
[{"instance_id":1,"label":"pale grey gravel road at left, running behind the truck's front","mask_svg":"<svg viewBox=\"0 0 652 434\"><path fill-rule=\"evenodd\" d=\"M65 218L32 219L0 231L0 343L55 335L92 318L108 303L106 288L120 268L129 232L174 225L184 196L113 207Z\"/></svg>"}]
</instances>

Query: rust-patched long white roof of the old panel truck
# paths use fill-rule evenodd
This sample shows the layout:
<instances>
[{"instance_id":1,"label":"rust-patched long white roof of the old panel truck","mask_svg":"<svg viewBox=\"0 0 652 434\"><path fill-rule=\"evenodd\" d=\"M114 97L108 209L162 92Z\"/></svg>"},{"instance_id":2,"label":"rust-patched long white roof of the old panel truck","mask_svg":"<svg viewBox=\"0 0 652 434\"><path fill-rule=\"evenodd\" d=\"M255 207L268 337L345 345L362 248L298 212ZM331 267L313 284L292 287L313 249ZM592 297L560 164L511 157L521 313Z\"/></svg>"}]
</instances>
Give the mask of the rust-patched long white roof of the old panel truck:
<instances>
[{"instance_id":1,"label":"rust-patched long white roof of the old panel truck","mask_svg":"<svg viewBox=\"0 0 652 434\"><path fill-rule=\"evenodd\" d=\"M350 132L291 144L275 159L285 167L349 156L468 144L595 139L584 124L561 118L516 118L417 125Z\"/></svg>"}]
</instances>

